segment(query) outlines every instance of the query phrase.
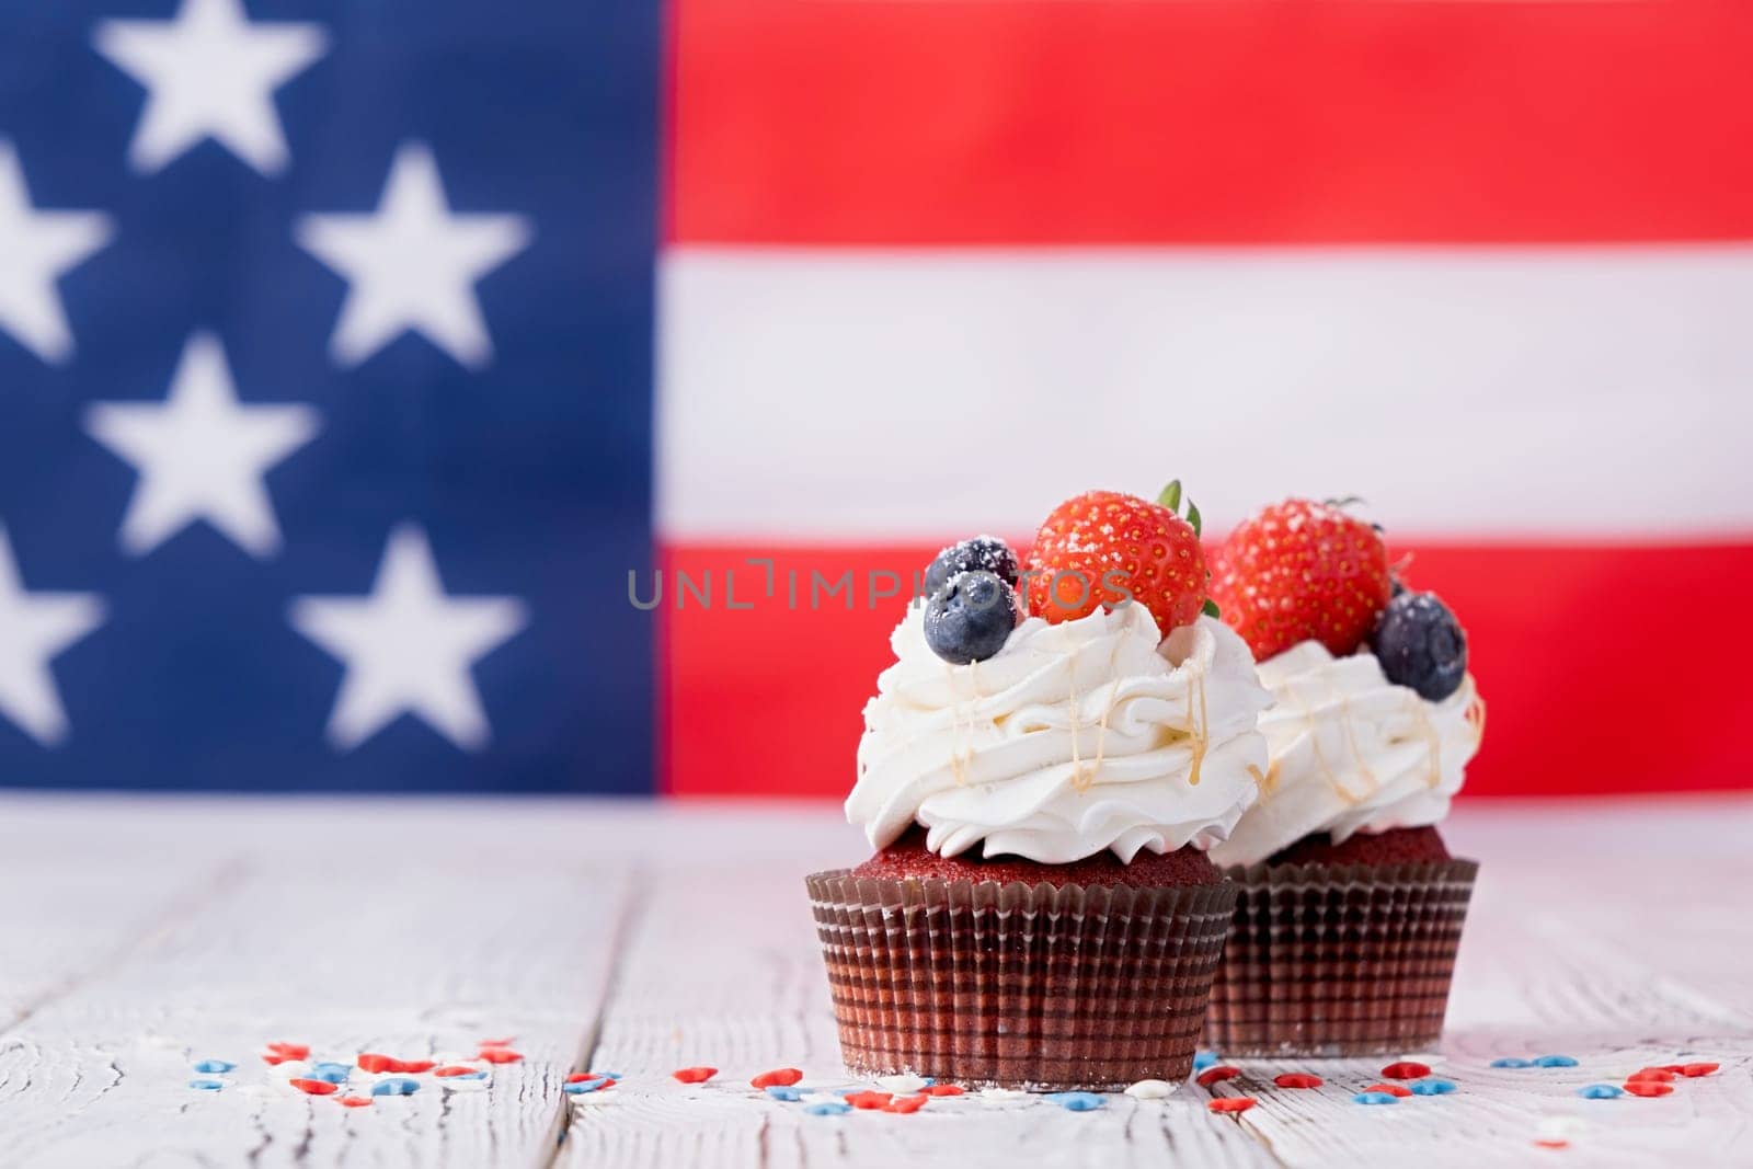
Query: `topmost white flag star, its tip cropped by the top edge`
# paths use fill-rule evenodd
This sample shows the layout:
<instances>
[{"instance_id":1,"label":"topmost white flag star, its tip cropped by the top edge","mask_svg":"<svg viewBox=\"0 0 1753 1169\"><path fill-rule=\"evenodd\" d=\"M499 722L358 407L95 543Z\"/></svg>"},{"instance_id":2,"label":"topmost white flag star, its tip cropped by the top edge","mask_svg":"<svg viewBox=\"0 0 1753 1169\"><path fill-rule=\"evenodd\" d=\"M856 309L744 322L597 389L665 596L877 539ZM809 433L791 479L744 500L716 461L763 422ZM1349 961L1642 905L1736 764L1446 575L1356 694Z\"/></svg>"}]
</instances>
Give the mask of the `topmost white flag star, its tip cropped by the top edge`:
<instances>
[{"instance_id":1,"label":"topmost white flag star, its tip cropped by the top edge","mask_svg":"<svg viewBox=\"0 0 1753 1169\"><path fill-rule=\"evenodd\" d=\"M214 138L263 175L291 158L273 91L328 51L321 25L252 25L242 0L182 0L168 21L103 21L96 51L149 89L128 163L153 174Z\"/></svg>"}]
</instances>

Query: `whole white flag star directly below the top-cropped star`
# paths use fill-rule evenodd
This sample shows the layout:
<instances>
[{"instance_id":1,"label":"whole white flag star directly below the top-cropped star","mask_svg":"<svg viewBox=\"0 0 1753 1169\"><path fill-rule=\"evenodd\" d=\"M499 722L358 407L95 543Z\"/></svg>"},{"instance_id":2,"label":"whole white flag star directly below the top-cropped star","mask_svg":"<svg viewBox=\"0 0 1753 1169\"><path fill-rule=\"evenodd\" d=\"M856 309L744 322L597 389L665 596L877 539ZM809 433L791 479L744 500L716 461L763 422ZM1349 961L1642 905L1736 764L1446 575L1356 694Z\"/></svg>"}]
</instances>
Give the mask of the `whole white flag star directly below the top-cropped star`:
<instances>
[{"instance_id":1,"label":"whole white flag star directly below the top-cropped star","mask_svg":"<svg viewBox=\"0 0 1753 1169\"><path fill-rule=\"evenodd\" d=\"M207 333L182 349L165 401L100 401L86 410L86 431L140 471L121 522L121 547L133 556L202 519L258 559L279 552L280 528L261 477L317 428L312 407L238 405L224 351Z\"/></svg>"}]
</instances>

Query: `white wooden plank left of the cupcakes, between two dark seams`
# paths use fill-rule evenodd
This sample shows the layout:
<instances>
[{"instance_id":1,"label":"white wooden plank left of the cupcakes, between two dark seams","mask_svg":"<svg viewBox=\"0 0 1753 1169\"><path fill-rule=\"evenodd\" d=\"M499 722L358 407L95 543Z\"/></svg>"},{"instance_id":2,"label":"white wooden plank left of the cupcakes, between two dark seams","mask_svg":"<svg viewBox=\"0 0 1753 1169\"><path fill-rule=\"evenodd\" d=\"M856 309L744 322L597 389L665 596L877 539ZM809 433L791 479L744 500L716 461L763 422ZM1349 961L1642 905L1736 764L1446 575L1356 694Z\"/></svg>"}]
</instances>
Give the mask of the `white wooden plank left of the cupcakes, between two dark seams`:
<instances>
[{"instance_id":1,"label":"white wooden plank left of the cupcakes, between two dark seams","mask_svg":"<svg viewBox=\"0 0 1753 1169\"><path fill-rule=\"evenodd\" d=\"M289 836L240 862L205 904L0 1034L7 1157L547 1164L559 1087L593 1039L626 878L570 848L521 848L498 827L491 815L459 820L449 843L473 847L433 852L379 818L375 852ZM116 883L121 868L109 869ZM526 1060L498 1067L486 1092L428 1080L365 1109L284 1087L258 1055L286 1039L314 1059L415 1059L512 1034ZM233 1087L188 1087L209 1057L238 1064Z\"/></svg>"}]
</instances>

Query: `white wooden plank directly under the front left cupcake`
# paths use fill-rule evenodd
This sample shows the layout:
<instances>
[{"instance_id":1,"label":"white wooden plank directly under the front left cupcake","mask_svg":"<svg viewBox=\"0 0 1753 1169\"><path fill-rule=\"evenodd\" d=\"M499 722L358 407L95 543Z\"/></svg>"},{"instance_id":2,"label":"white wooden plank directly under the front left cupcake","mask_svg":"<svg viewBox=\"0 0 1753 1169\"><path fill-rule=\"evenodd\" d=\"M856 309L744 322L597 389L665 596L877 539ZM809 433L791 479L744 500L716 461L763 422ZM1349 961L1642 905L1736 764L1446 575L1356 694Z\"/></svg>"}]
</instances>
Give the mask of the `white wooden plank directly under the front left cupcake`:
<instances>
[{"instance_id":1,"label":"white wooden plank directly under the front left cupcake","mask_svg":"<svg viewBox=\"0 0 1753 1169\"><path fill-rule=\"evenodd\" d=\"M771 1067L803 1069L805 1085L855 1083L840 1066L805 868L791 859L796 848L789 854L757 868L647 873L589 1060L626 1080L578 1102L563 1165L1278 1164L1190 1088L1164 1102L1110 1097L1103 1113L969 1097L912 1116L834 1118L752 1090L749 1078ZM719 1067L719 1078L684 1087L670 1076L698 1064Z\"/></svg>"}]
</instances>

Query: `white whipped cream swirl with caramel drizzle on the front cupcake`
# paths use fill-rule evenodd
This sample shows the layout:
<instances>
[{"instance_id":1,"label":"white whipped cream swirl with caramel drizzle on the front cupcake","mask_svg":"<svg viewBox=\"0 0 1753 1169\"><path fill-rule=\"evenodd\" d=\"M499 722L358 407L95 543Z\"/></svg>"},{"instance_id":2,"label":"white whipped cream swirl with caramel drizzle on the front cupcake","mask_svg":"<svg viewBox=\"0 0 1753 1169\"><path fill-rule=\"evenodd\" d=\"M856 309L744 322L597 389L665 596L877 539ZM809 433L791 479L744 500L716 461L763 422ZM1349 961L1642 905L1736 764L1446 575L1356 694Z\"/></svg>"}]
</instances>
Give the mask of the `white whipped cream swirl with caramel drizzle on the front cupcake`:
<instances>
[{"instance_id":1,"label":"white whipped cream swirl with caramel drizzle on the front cupcake","mask_svg":"<svg viewBox=\"0 0 1753 1169\"><path fill-rule=\"evenodd\" d=\"M1248 647L1201 617L1166 640L1143 605L1024 620L987 661L926 645L924 608L889 638L896 662L864 706L847 818L871 845L913 822L947 857L1069 864L1113 850L1224 840L1266 775L1255 729L1271 698Z\"/></svg>"}]
</instances>

